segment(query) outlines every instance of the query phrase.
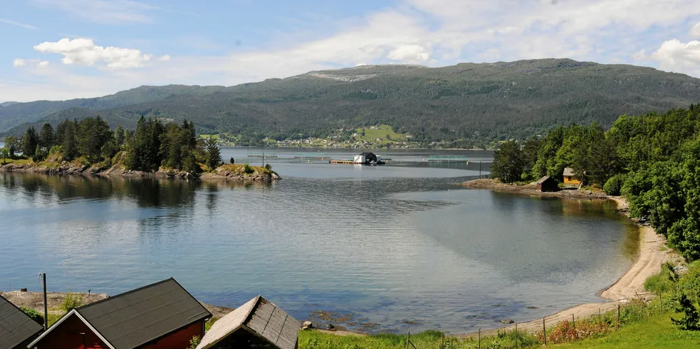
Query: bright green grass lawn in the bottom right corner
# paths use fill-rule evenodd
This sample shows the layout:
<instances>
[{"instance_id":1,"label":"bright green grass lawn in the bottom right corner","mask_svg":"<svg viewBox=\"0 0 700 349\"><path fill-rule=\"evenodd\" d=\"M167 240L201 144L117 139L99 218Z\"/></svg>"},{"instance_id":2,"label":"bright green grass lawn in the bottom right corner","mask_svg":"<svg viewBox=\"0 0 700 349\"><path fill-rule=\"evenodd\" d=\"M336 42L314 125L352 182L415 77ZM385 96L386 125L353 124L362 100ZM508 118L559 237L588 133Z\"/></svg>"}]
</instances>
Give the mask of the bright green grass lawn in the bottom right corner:
<instances>
[{"instance_id":1,"label":"bright green grass lawn in the bottom right corner","mask_svg":"<svg viewBox=\"0 0 700 349\"><path fill-rule=\"evenodd\" d=\"M677 329L671 324L669 315L655 315L652 318L640 320L601 338L589 338L574 343L551 345L551 347L556 349L700 348L700 331Z\"/></svg>"}]
</instances>

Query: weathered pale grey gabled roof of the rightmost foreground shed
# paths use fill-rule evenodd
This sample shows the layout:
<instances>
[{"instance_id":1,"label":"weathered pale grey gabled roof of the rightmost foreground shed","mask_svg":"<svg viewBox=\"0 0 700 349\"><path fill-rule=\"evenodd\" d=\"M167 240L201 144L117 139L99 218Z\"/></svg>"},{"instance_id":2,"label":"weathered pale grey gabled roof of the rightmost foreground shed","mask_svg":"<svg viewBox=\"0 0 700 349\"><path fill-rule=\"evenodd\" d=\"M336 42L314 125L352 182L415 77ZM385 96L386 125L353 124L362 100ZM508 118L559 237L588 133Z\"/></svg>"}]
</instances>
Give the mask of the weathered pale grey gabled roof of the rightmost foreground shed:
<instances>
[{"instance_id":1,"label":"weathered pale grey gabled roof of the rightmost foreground shed","mask_svg":"<svg viewBox=\"0 0 700 349\"><path fill-rule=\"evenodd\" d=\"M259 295L217 320L197 349L211 348L239 328L245 328L279 349L296 348L299 321Z\"/></svg>"}]
</instances>

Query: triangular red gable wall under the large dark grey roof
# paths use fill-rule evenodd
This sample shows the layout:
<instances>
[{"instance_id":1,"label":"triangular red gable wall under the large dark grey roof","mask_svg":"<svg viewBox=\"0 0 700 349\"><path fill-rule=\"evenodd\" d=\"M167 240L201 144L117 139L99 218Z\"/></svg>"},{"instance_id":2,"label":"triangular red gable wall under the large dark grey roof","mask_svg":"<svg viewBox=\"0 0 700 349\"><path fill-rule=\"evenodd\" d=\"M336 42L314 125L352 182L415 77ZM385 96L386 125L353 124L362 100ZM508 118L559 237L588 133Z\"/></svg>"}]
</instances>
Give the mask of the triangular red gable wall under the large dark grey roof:
<instances>
[{"instance_id":1,"label":"triangular red gable wall under the large dark grey roof","mask_svg":"<svg viewBox=\"0 0 700 349\"><path fill-rule=\"evenodd\" d=\"M85 333L81 335L80 333ZM85 345L84 345L85 344ZM105 349L109 348L76 315L70 315L34 347L37 349ZM185 347L186 348L186 347Z\"/></svg>"}]
</instances>

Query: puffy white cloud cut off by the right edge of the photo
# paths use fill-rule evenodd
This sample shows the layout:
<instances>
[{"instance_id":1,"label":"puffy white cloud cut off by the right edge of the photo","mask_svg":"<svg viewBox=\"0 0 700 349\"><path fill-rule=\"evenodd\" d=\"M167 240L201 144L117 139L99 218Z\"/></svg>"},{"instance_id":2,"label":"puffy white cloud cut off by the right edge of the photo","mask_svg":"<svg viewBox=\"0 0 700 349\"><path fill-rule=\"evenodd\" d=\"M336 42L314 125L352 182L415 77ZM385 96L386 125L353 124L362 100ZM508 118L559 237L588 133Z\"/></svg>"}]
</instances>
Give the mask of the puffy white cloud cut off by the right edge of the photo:
<instances>
[{"instance_id":1,"label":"puffy white cloud cut off by the right edge of the photo","mask_svg":"<svg viewBox=\"0 0 700 349\"><path fill-rule=\"evenodd\" d=\"M676 39L665 41L651 54L650 58L659 61L659 67L662 70L698 74L700 73L700 41L688 43Z\"/></svg>"}]
</instances>

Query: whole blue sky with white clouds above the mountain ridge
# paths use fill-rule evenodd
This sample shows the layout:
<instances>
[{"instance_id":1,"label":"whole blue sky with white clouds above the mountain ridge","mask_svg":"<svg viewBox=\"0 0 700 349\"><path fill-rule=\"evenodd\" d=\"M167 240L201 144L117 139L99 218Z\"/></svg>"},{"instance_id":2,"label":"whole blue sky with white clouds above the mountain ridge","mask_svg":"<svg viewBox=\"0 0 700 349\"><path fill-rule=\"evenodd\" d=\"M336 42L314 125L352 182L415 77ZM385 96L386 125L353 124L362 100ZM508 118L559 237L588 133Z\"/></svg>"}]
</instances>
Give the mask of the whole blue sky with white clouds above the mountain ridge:
<instances>
[{"instance_id":1,"label":"whole blue sky with white clouds above the mountain ridge","mask_svg":"<svg viewBox=\"0 0 700 349\"><path fill-rule=\"evenodd\" d=\"M697 0L0 0L0 101L362 64L569 58L700 77Z\"/></svg>"}]
</instances>

